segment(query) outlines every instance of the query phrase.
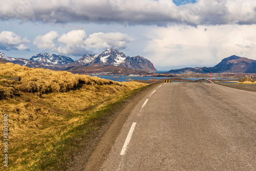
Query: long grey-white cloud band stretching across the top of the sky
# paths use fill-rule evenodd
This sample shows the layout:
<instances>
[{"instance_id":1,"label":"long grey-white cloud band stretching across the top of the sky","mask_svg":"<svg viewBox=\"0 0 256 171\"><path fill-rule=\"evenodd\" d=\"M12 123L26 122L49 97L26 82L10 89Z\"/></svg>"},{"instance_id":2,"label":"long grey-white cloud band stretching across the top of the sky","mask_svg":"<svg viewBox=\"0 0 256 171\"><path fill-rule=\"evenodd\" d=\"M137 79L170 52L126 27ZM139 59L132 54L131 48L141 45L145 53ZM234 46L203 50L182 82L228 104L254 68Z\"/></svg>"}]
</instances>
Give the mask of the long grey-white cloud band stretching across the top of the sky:
<instances>
[{"instance_id":1,"label":"long grey-white cloud band stretching across the top of the sky","mask_svg":"<svg viewBox=\"0 0 256 171\"><path fill-rule=\"evenodd\" d=\"M2 0L0 18L53 23L249 25L256 24L255 7L254 0L198 0L180 6L170 0Z\"/></svg>"}]
</instances>

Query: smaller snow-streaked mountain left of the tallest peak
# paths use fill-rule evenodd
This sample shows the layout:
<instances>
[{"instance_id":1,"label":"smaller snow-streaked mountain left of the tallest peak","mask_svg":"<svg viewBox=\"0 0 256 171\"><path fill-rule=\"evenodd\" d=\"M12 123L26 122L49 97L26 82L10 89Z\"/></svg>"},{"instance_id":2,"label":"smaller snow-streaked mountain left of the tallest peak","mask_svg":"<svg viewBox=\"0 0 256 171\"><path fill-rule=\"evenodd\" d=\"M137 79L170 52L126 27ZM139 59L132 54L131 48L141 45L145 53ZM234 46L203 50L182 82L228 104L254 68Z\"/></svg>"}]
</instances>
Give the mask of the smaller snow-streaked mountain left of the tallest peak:
<instances>
[{"instance_id":1,"label":"smaller snow-streaked mountain left of the tallest peak","mask_svg":"<svg viewBox=\"0 0 256 171\"><path fill-rule=\"evenodd\" d=\"M44 63L45 65L64 65L67 63L74 62L73 59L71 59L68 56L64 55L55 55L52 53L39 53L37 55L34 55L30 58L30 60L33 60L35 62Z\"/></svg>"}]
</instances>

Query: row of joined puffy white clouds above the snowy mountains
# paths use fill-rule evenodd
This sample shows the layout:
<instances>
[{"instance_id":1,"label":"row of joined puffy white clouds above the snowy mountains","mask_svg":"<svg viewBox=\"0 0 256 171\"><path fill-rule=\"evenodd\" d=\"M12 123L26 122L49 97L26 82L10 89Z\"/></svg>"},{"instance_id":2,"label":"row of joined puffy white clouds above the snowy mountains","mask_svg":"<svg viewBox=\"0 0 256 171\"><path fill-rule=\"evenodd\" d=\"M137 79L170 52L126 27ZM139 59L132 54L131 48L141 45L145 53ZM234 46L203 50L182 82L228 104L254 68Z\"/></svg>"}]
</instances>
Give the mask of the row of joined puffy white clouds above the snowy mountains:
<instances>
[{"instance_id":1,"label":"row of joined puffy white clouds above the snowy mountains","mask_svg":"<svg viewBox=\"0 0 256 171\"><path fill-rule=\"evenodd\" d=\"M72 30L62 35L59 35L56 31L50 31L45 35L38 35L33 43L40 50L52 50L63 55L81 56L86 53L93 54L90 49L124 49L127 42L134 40L133 36L119 32L99 32L87 37L84 30Z\"/></svg>"}]
</instances>

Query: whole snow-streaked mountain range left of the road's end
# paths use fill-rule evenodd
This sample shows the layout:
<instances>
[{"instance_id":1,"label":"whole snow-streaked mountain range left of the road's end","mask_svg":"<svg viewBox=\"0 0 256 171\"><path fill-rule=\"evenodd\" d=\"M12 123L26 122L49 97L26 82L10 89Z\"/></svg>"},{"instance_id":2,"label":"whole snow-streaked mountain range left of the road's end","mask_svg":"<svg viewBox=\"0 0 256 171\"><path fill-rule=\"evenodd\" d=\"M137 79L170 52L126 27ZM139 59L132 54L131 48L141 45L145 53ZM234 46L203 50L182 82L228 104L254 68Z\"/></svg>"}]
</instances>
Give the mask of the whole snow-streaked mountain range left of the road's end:
<instances>
[{"instance_id":1,"label":"whole snow-streaked mountain range left of the road's end","mask_svg":"<svg viewBox=\"0 0 256 171\"><path fill-rule=\"evenodd\" d=\"M152 63L150 60L142 56L125 56L124 53L116 49L107 49L99 55L83 55L80 59L74 61L72 58L64 55L56 55L51 53L39 53L30 59L13 58L6 56L0 52L0 61L12 62L30 68L44 68L51 70L63 70L69 67L79 66L109 66L124 67L129 69L152 71ZM154 71L157 71L154 68Z\"/></svg>"}]
</instances>

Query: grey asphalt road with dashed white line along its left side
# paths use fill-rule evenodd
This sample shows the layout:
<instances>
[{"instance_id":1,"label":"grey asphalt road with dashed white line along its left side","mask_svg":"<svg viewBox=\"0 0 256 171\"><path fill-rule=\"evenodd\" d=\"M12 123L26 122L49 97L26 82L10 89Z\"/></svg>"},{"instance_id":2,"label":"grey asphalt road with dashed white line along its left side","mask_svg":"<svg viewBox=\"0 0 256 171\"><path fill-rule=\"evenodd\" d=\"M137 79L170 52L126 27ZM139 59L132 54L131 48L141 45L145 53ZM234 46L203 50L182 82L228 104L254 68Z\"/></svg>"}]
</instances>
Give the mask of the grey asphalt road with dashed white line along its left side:
<instances>
[{"instance_id":1,"label":"grey asphalt road with dashed white line along its left side","mask_svg":"<svg viewBox=\"0 0 256 171\"><path fill-rule=\"evenodd\" d=\"M159 84L131 112L101 170L256 170L256 93Z\"/></svg>"}]
</instances>

